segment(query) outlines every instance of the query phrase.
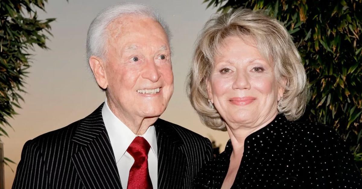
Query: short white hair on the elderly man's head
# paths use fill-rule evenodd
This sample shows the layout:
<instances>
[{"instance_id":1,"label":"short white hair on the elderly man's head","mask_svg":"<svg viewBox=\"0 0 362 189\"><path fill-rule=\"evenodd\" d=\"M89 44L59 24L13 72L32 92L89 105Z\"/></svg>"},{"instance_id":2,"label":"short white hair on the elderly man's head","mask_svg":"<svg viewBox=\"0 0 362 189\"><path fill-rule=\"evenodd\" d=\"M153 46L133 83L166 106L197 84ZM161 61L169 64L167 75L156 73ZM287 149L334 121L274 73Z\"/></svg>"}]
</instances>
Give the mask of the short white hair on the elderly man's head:
<instances>
[{"instance_id":1,"label":"short white hair on the elderly man's head","mask_svg":"<svg viewBox=\"0 0 362 189\"><path fill-rule=\"evenodd\" d=\"M89 61L90 56L97 56L102 60L106 60L106 44L109 37L106 28L113 20L122 17L125 14L135 14L159 22L165 30L168 40L171 39L168 25L152 7L136 3L119 3L111 5L98 13L96 18L90 23L87 34L87 62Z\"/></svg>"}]
</instances>

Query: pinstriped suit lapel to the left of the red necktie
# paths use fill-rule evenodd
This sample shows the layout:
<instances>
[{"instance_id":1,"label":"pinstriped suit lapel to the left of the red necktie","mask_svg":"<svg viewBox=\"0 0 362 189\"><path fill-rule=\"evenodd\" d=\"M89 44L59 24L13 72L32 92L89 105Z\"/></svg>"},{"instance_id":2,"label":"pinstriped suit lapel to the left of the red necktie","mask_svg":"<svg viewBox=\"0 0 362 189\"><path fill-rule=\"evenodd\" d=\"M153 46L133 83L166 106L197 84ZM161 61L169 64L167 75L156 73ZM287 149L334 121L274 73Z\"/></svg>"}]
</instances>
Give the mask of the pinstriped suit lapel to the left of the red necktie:
<instances>
[{"instance_id":1,"label":"pinstriped suit lapel to the left of the red necktie","mask_svg":"<svg viewBox=\"0 0 362 189\"><path fill-rule=\"evenodd\" d=\"M72 162L85 188L122 188L102 107L80 121L72 138L76 148Z\"/></svg>"}]
</instances>

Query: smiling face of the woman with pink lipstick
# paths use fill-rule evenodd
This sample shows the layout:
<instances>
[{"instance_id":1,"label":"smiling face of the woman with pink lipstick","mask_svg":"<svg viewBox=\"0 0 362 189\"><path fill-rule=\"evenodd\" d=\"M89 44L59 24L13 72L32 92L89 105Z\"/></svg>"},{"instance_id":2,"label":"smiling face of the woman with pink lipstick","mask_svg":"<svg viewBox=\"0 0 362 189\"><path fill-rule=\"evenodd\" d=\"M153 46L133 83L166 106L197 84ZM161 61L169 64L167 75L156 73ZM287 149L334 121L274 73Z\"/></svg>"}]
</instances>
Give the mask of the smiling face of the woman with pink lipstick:
<instances>
[{"instance_id":1,"label":"smiling face of the woman with pink lipstick","mask_svg":"<svg viewBox=\"0 0 362 189\"><path fill-rule=\"evenodd\" d=\"M274 68L260 55L252 37L229 36L224 44L215 56L208 85L211 102L228 127L264 125L277 115L283 94Z\"/></svg>"}]
</instances>

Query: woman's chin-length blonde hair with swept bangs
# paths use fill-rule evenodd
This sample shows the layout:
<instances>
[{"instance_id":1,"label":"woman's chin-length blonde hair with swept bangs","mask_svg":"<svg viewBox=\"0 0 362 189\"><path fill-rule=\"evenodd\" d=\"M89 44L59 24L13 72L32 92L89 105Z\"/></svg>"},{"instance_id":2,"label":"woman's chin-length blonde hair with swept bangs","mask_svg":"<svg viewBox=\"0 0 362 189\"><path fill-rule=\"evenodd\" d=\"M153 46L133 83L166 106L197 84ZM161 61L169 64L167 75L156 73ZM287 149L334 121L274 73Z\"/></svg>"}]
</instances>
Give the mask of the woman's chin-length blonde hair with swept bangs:
<instances>
[{"instance_id":1,"label":"woman's chin-length blonde hair with swept bangs","mask_svg":"<svg viewBox=\"0 0 362 189\"><path fill-rule=\"evenodd\" d=\"M211 129L226 130L220 114L209 107L207 82L214 57L223 45L227 45L223 44L223 39L228 36L251 36L255 40L260 54L274 66L278 85L285 88L279 113L288 120L299 119L306 107L309 86L292 37L279 21L267 16L263 10L237 9L207 21L195 44L187 92L202 123Z\"/></svg>"}]
</instances>

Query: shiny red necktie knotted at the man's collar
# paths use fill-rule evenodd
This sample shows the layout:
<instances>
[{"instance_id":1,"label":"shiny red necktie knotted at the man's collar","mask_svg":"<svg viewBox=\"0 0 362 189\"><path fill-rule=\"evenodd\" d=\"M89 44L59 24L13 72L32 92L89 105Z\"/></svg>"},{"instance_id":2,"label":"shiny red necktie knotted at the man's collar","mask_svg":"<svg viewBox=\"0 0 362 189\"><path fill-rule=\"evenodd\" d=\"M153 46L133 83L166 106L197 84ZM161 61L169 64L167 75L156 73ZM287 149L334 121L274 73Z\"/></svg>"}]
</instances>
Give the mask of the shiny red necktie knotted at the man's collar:
<instances>
[{"instance_id":1,"label":"shiny red necktie knotted at the man's collar","mask_svg":"<svg viewBox=\"0 0 362 189\"><path fill-rule=\"evenodd\" d=\"M148 173L148 151L150 144L143 137L136 137L127 149L135 162L130 169L127 189L152 189L150 173Z\"/></svg>"}]
</instances>

